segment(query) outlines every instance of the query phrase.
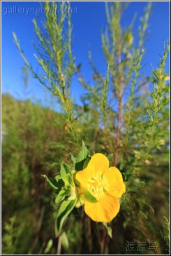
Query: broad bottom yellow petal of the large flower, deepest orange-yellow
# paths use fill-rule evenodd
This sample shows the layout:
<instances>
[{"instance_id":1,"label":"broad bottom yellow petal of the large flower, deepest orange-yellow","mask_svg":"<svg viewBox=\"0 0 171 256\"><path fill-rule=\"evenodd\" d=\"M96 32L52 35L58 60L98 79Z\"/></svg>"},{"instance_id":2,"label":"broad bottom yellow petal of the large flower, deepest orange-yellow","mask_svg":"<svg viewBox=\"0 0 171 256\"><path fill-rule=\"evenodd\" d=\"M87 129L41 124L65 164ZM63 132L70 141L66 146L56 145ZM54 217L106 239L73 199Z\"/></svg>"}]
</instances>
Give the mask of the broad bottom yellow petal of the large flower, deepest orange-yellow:
<instances>
[{"instance_id":1,"label":"broad bottom yellow petal of the large flower, deepest orange-yellow","mask_svg":"<svg viewBox=\"0 0 171 256\"><path fill-rule=\"evenodd\" d=\"M85 201L84 204L85 213L94 222L110 222L119 213L119 208L119 200L107 193L104 193L97 203Z\"/></svg>"}]
</instances>

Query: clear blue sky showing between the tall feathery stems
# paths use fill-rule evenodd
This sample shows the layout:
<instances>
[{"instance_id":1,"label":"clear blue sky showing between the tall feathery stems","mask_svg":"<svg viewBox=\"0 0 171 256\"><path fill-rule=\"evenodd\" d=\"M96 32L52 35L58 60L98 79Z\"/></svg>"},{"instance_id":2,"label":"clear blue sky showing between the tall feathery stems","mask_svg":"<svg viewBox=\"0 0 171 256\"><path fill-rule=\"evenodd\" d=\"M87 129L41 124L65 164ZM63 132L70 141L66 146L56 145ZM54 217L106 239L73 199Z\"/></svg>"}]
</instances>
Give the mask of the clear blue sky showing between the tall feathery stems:
<instances>
[{"instance_id":1,"label":"clear blue sky showing between the tall feathery stems","mask_svg":"<svg viewBox=\"0 0 171 256\"><path fill-rule=\"evenodd\" d=\"M137 31L139 19L143 15L143 9L147 2L131 2L126 11L124 11L124 19L122 23L124 27L130 24L135 13L137 18L135 21L134 31ZM77 8L77 13L73 13L73 34L75 41L73 43L73 53L76 57L76 63L82 63L82 73L87 81L91 78L91 67L89 65L88 48L91 46L94 62L96 67L105 74L106 66L103 61L101 50L101 28L106 25L105 4L104 2L71 2L73 8ZM34 58L34 47L31 41L37 42L34 34L34 25L32 20L35 14L29 12L20 13L20 7L40 7L37 1L3 1L1 5L2 20L2 93L10 93L18 99L23 99L24 87L22 79L22 66L24 61L20 57L15 44L13 43L12 32L17 34L20 45L29 62L35 69L40 70L38 63ZM10 13L13 8L14 13ZM147 41L147 54L143 60L144 73L151 74L151 63L156 67L158 63L159 53L163 53L163 42L167 42L169 34L169 2L154 2L154 11L150 20L151 34ZM39 14L40 16L43 13ZM169 68L169 62L167 65ZM76 77L73 79L72 96L79 102L80 94L84 92ZM30 77L29 92L27 97L36 98L45 104L45 92L47 91L39 85L36 79ZM48 95L47 95L48 98Z\"/></svg>"}]
</instances>

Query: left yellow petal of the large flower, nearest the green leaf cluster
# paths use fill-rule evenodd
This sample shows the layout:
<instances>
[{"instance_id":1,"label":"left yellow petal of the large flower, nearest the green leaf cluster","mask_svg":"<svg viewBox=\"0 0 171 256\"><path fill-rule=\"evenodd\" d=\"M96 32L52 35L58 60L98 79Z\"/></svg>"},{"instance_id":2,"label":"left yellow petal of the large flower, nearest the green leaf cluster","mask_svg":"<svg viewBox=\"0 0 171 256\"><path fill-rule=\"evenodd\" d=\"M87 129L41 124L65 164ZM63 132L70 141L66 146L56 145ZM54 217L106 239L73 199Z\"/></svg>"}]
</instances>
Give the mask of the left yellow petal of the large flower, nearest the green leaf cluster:
<instances>
[{"instance_id":1,"label":"left yellow petal of the large flower, nearest the green leaf cluster","mask_svg":"<svg viewBox=\"0 0 171 256\"><path fill-rule=\"evenodd\" d=\"M87 166L87 168L85 168L84 170L80 170L79 172L77 172L75 178L78 182L80 182L81 187L87 189L87 184L92 175L94 175L94 169L92 169L90 166Z\"/></svg>"}]
</instances>

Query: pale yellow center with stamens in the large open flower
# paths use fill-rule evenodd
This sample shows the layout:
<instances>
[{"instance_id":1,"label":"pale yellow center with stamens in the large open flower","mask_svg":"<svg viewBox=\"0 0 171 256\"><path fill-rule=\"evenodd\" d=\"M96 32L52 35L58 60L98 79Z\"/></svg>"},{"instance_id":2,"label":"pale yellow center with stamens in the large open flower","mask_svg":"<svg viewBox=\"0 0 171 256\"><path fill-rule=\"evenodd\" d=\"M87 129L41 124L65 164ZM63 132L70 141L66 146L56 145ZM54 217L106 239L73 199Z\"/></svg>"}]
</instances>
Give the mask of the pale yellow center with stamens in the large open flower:
<instances>
[{"instance_id":1,"label":"pale yellow center with stamens in the large open flower","mask_svg":"<svg viewBox=\"0 0 171 256\"><path fill-rule=\"evenodd\" d=\"M88 182L88 189L96 198L103 192L102 175L94 175Z\"/></svg>"}]
</instances>

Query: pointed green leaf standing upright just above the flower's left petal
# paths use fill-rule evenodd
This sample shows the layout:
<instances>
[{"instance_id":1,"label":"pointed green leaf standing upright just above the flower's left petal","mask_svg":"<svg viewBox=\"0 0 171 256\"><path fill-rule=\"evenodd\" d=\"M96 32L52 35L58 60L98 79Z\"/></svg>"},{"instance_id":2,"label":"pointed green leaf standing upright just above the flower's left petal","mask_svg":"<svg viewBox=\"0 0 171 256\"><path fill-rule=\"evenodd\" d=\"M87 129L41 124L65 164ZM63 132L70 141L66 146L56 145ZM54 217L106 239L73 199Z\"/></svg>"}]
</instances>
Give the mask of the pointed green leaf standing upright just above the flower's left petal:
<instances>
[{"instance_id":1,"label":"pointed green leaf standing upright just above the flower's left petal","mask_svg":"<svg viewBox=\"0 0 171 256\"><path fill-rule=\"evenodd\" d=\"M87 160L87 157L89 157L90 153L87 149L87 147L84 144L84 141L82 141L82 151L80 151L79 156L75 157L71 154L71 159L73 160L73 168L75 170L83 170L84 166L86 166L85 161ZM84 165L85 163L85 165ZM87 163L88 164L88 163Z\"/></svg>"}]
</instances>

